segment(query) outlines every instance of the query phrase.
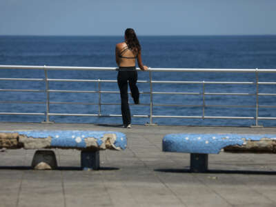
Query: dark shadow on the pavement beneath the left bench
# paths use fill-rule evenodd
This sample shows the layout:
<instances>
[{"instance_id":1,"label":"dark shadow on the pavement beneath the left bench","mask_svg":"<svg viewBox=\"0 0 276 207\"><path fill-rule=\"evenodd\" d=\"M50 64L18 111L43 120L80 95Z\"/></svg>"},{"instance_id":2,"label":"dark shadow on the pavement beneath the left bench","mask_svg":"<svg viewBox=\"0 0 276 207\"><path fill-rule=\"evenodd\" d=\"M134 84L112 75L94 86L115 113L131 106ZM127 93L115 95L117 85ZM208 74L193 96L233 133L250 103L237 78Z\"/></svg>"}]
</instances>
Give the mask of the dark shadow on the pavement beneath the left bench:
<instances>
[{"instance_id":1,"label":"dark shadow on the pavement beneath the left bench","mask_svg":"<svg viewBox=\"0 0 276 207\"><path fill-rule=\"evenodd\" d=\"M31 166L0 166L0 170L34 170ZM55 170L80 170L83 171L81 167L75 166L59 166ZM120 170L120 168L112 167L100 167L99 170L108 171L108 170ZM99 171L97 170L97 171Z\"/></svg>"}]
</instances>

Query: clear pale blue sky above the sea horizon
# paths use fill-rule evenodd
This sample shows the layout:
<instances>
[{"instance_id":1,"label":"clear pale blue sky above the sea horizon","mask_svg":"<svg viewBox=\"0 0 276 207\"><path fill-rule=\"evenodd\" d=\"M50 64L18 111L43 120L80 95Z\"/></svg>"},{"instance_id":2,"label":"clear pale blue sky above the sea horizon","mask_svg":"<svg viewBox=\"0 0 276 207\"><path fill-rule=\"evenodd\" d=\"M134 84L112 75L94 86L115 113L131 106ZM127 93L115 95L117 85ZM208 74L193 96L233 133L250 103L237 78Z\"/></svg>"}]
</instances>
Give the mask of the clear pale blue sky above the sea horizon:
<instances>
[{"instance_id":1,"label":"clear pale blue sky above the sea horizon","mask_svg":"<svg viewBox=\"0 0 276 207\"><path fill-rule=\"evenodd\" d=\"M1 0L0 35L276 34L276 0Z\"/></svg>"}]
</instances>

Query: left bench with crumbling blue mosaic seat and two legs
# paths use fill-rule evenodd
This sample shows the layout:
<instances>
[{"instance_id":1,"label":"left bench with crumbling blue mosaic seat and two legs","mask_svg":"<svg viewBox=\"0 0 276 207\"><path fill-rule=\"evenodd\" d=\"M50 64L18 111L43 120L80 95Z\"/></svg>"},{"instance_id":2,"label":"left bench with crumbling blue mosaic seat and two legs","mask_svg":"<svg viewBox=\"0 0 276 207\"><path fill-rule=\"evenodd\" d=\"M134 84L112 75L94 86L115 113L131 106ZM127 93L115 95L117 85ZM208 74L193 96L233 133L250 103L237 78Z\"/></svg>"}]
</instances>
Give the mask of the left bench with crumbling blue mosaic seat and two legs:
<instances>
[{"instance_id":1,"label":"left bench with crumbling blue mosaic seat and two legs","mask_svg":"<svg viewBox=\"0 0 276 207\"><path fill-rule=\"evenodd\" d=\"M92 130L21 130L0 131L0 148L16 149L77 149L81 150L81 168L99 169L99 150L126 149L126 135L121 132ZM46 164L49 168L57 166L55 152L37 150L32 166Z\"/></svg>"}]
</instances>

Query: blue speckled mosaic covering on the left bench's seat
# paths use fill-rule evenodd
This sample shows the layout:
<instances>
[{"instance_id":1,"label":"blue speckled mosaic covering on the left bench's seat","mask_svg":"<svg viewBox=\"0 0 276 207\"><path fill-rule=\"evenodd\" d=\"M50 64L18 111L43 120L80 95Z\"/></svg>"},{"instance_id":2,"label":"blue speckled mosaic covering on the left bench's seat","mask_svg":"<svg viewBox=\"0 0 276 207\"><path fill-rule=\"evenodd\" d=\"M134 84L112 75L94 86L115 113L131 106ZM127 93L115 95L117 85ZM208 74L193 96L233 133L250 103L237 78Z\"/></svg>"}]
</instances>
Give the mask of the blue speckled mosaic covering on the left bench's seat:
<instances>
[{"instance_id":1,"label":"blue speckled mosaic covering on the left bench's seat","mask_svg":"<svg viewBox=\"0 0 276 207\"><path fill-rule=\"evenodd\" d=\"M48 146L61 148L88 148L95 147L101 150L109 144L112 149L126 149L126 135L114 131L93 131L93 130L20 130L20 131L0 131L0 132L17 132L19 135L25 135L28 139L19 137L19 141L26 146L28 142L38 142L38 138L48 139ZM21 139L21 140L20 140ZM37 139L37 141L36 141ZM41 139L40 139L41 140ZM107 142L106 142L107 141ZM41 142L41 141L40 141ZM106 143L108 144L106 144ZM28 148L28 147L26 147ZM30 147L32 148L32 146Z\"/></svg>"}]
</instances>

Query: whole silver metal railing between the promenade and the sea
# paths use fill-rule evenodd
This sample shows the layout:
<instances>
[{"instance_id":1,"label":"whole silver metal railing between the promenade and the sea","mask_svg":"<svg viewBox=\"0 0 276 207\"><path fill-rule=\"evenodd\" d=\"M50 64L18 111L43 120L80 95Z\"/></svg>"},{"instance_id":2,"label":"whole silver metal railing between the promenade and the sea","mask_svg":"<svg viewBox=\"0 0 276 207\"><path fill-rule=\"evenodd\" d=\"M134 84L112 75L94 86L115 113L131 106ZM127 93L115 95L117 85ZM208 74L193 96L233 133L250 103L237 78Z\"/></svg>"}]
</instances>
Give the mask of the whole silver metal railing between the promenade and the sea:
<instances>
[{"instance_id":1,"label":"whole silver metal railing between the promenade and the sea","mask_svg":"<svg viewBox=\"0 0 276 207\"><path fill-rule=\"evenodd\" d=\"M46 122L50 122L50 116L90 116L90 117L121 117L121 115L102 115L101 106L103 105L120 105L120 103L102 103L101 94L103 93L119 93L119 91L101 90L101 83L117 83L117 80L106 79L49 79L48 71L50 70L117 70L117 68L104 68L104 67L65 67L65 66L0 66L0 69L32 69L43 70L45 77L41 78L9 78L1 77L0 81L43 81L45 83L45 90L29 90L29 89L1 89L0 92L43 92L46 95L46 103L44 101L8 101L1 100L0 103L38 103L46 104L46 112L0 112L0 115L43 115L46 117ZM139 70L137 68L137 70ZM245 72L255 73L255 81L155 81L152 80L152 72ZM255 119L255 125L258 126L258 121L261 119L276 120L276 117L259 117L259 108L276 108L276 106L261 106L259 105L259 96L276 96L276 93L260 93L259 85L276 85L276 82L261 82L259 81L259 73L274 73L274 69L209 69L209 68L150 68L148 70L149 79L146 81L138 81L139 83L148 83L150 91L141 92L141 94L150 95L150 103L143 103L141 105L149 106L150 112L148 115L132 115L132 117L144 117L149 119L149 124L152 124L153 118L179 118L179 119ZM97 90L51 90L49 88L49 82L51 81L66 81L66 82L95 82L97 83ZM153 84L199 84L202 86L202 92L158 92L153 91ZM255 92L206 92L206 85L210 84L234 84L234 85L253 85L255 86ZM99 99L97 103L83 103L83 102L57 102L50 101L51 92L88 92L97 93ZM184 105L184 104L156 104L153 102L153 95L197 95L202 97L202 104L200 105ZM206 95L238 95L238 96L255 96L255 104L250 106L244 105L206 105ZM83 105L97 105L97 114L75 114L75 113L53 113L50 112L51 104L83 104ZM175 116L175 115L154 115L153 106L181 106L181 107L201 107L201 116ZM222 108L255 108L255 116L253 117L232 117L232 116L206 116L206 107L222 107Z\"/></svg>"}]
</instances>

